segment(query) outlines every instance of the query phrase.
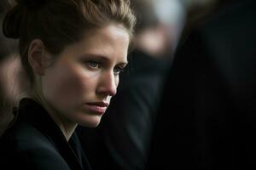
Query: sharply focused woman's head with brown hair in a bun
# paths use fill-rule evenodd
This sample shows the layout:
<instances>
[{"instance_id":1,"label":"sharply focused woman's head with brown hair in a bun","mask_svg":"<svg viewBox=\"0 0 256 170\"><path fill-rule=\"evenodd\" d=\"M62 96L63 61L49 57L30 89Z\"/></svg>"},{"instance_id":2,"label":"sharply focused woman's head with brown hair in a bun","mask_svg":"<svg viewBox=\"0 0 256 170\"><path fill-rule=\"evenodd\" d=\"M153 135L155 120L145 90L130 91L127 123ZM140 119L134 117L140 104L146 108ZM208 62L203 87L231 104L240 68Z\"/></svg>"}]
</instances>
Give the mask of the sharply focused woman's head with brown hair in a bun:
<instances>
[{"instance_id":1,"label":"sharply focused woman's head with brown hair in a bun","mask_svg":"<svg viewBox=\"0 0 256 170\"><path fill-rule=\"evenodd\" d=\"M95 127L127 63L129 0L17 0L3 22L18 38L32 95L55 122Z\"/></svg>"}]
</instances>

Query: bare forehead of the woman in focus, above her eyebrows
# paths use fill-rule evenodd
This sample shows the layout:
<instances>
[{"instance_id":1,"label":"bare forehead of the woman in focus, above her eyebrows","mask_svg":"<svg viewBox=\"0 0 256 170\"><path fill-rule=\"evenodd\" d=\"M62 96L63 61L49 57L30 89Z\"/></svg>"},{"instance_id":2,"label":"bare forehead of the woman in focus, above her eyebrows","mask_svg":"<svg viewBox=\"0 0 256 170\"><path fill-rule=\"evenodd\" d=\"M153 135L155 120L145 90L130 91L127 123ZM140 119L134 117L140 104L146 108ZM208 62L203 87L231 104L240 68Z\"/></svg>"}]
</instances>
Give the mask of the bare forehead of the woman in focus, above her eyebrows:
<instances>
[{"instance_id":1,"label":"bare forehead of the woman in focus, above her eyebrows","mask_svg":"<svg viewBox=\"0 0 256 170\"><path fill-rule=\"evenodd\" d=\"M84 31L81 41L73 43L64 49L64 53L77 55L93 54L126 61L130 43L130 35L119 25Z\"/></svg>"}]
</instances>

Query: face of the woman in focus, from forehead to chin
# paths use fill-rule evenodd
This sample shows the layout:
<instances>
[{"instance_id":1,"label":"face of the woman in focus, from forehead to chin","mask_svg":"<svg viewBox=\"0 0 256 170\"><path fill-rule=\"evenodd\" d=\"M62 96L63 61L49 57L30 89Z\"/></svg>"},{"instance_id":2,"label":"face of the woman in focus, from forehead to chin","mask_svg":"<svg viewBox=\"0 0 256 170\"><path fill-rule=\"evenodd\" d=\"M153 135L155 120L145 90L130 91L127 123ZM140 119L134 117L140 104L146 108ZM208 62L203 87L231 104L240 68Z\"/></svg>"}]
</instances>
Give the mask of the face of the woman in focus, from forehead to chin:
<instances>
[{"instance_id":1,"label":"face of the woman in focus, from forehead to chin","mask_svg":"<svg viewBox=\"0 0 256 170\"><path fill-rule=\"evenodd\" d=\"M121 26L87 31L82 41L64 48L45 69L43 97L62 121L98 125L116 94L129 42L129 34Z\"/></svg>"}]
</instances>

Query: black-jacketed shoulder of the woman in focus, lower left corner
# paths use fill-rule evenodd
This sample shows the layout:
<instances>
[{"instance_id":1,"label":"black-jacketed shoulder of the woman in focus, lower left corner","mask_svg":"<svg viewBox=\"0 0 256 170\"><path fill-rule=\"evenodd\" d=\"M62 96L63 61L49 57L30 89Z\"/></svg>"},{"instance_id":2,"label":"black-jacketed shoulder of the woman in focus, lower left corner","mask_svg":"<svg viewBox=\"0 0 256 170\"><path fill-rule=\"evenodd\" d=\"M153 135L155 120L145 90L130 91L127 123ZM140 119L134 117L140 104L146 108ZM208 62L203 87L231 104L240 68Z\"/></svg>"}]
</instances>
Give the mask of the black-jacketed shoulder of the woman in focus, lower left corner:
<instances>
[{"instance_id":1,"label":"black-jacketed shoulder of the woman in focus, lower left corner","mask_svg":"<svg viewBox=\"0 0 256 170\"><path fill-rule=\"evenodd\" d=\"M1 139L1 165L8 169L69 169L55 145L28 124L9 129Z\"/></svg>"}]
</instances>

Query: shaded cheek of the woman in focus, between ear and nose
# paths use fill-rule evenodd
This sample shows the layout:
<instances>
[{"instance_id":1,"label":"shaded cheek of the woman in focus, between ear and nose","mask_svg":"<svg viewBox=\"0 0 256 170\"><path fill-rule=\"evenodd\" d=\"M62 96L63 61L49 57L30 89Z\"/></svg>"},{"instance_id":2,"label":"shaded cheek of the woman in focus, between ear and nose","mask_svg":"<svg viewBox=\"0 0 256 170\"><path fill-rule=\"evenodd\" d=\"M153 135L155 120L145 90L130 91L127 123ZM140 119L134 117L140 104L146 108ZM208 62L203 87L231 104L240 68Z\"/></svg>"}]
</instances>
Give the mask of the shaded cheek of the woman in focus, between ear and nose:
<instances>
[{"instance_id":1,"label":"shaded cheek of the woman in focus, between ear and nose","mask_svg":"<svg viewBox=\"0 0 256 170\"><path fill-rule=\"evenodd\" d=\"M61 105L67 105L83 99L93 91L93 82L79 69L64 67L52 71L45 80L44 95L47 98L58 100Z\"/></svg>"}]
</instances>

